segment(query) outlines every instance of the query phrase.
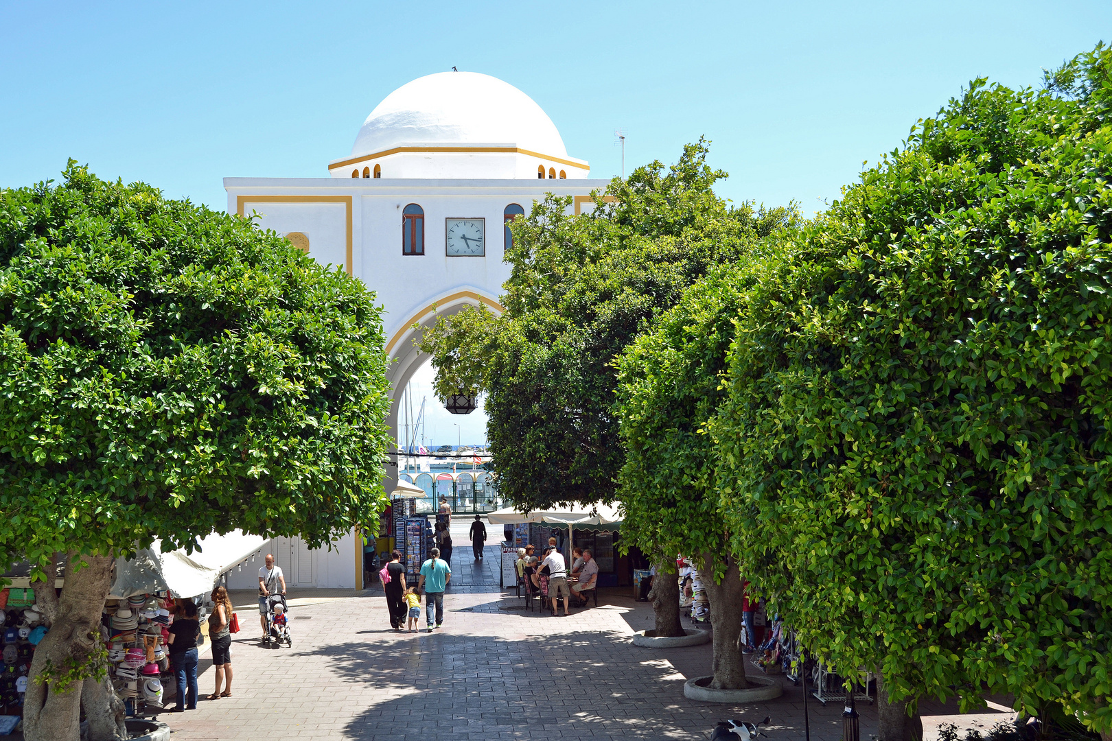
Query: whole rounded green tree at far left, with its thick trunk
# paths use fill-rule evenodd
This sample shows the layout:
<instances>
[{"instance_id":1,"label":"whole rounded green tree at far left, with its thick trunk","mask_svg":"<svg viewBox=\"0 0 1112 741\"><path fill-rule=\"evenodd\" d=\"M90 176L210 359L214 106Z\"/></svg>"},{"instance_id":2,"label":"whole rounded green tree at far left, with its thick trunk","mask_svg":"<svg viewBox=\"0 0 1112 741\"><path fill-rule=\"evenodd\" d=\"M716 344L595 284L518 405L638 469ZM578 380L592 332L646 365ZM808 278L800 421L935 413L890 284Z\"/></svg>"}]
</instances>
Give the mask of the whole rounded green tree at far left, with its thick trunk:
<instances>
[{"instance_id":1,"label":"whole rounded green tree at far left, with its thick trunk","mask_svg":"<svg viewBox=\"0 0 1112 741\"><path fill-rule=\"evenodd\" d=\"M249 220L73 162L0 192L0 562L30 560L52 622L29 740L76 740L82 700L92 738L123 732L99 638L113 557L374 525L385 370L374 296Z\"/></svg>"}]
</instances>

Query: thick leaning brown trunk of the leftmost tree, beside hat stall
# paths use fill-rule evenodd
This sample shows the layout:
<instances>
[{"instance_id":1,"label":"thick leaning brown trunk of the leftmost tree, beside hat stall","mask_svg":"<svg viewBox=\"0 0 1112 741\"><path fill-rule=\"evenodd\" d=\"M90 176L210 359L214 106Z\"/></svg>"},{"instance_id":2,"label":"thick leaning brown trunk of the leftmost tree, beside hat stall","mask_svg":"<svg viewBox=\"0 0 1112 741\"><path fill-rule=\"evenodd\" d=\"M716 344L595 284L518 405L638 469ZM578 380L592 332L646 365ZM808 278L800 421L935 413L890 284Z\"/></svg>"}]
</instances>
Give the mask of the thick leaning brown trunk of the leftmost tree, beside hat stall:
<instances>
[{"instance_id":1,"label":"thick leaning brown trunk of the leftmost tree, beside hat stall","mask_svg":"<svg viewBox=\"0 0 1112 741\"><path fill-rule=\"evenodd\" d=\"M34 651L23 700L23 738L27 741L78 741L80 737L81 680L62 689L51 680L36 681L49 661L66 672L68 660L85 663L100 643L100 613L111 587L112 558L81 557L86 565L73 568L76 553L69 554L66 585L58 599L57 614L50 631Z\"/></svg>"}]
</instances>

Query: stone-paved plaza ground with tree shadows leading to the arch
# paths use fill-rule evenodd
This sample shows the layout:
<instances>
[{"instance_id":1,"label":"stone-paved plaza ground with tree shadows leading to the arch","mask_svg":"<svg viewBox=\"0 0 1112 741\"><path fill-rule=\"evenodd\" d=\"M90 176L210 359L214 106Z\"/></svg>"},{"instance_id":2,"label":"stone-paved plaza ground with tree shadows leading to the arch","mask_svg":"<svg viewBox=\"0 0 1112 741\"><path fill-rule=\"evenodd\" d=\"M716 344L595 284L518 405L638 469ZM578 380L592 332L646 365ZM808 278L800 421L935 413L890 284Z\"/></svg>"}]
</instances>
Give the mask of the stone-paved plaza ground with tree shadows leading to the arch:
<instances>
[{"instance_id":1,"label":"stone-paved plaza ground with tree shadows leading to the arch","mask_svg":"<svg viewBox=\"0 0 1112 741\"><path fill-rule=\"evenodd\" d=\"M634 647L629 635L652 627L652 610L628 589L603 590L597 608L569 618L526 612L513 590L498 588L498 549L476 563L465 538L454 538L464 547L453 554L445 625L434 633L390 630L380 589L304 590L290 595L292 649L265 649L254 593L234 594L244 625L232 649L234 697L163 713L171 738L707 739L719 719L765 715L772 741L804 738L802 689L788 681L784 697L765 703L685 699L684 681L709 673L709 645ZM214 684L207 655L201 669L203 695ZM924 708L927 738L943 720L985 729L1012 718L995 708L963 717ZM858 709L867 740L876 713ZM814 741L841 738L841 703L812 701L810 711Z\"/></svg>"}]
</instances>

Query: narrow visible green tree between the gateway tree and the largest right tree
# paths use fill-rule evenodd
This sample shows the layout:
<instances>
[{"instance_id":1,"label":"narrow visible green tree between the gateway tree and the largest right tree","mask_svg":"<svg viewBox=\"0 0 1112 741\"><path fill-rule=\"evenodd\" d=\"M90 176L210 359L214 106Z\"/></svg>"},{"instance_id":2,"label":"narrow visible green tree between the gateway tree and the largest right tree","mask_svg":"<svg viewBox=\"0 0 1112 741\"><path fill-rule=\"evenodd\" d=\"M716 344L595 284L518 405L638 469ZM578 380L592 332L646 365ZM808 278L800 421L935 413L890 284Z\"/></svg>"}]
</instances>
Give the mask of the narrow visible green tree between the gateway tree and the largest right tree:
<instances>
[{"instance_id":1,"label":"narrow visible green tree between the gateway tree and the largest right tree","mask_svg":"<svg viewBox=\"0 0 1112 741\"><path fill-rule=\"evenodd\" d=\"M689 554L704 571L714 625L714 689L748 683L738 643L742 573L718 512L713 444L704 427L723 397L719 377L754 259L695 283L652 331L626 348L618 366L615 411L626 449L618 475L622 534L663 558ZM657 625L657 634L664 630Z\"/></svg>"}]
</instances>

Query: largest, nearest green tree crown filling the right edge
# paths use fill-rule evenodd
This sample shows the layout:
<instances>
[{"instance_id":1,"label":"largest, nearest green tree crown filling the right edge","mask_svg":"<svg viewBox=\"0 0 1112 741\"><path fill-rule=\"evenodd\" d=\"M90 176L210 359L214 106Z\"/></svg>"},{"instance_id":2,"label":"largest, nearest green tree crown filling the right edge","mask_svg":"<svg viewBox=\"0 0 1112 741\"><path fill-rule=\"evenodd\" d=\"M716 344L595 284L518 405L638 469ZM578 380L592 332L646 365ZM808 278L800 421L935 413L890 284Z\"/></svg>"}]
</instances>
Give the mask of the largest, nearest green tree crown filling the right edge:
<instances>
[{"instance_id":1,"label":"largest, nearest green tree crown filling the right edge","mask_svg":"<svg viewBox=\"0 0 1112 741\"><path fill-rule=\"evenodd\" d=\"M709 425L734 551L912 711L987 688L1112 731L1110 69L973 81L738 317Z\"/></svg>"}]
</instances>

